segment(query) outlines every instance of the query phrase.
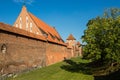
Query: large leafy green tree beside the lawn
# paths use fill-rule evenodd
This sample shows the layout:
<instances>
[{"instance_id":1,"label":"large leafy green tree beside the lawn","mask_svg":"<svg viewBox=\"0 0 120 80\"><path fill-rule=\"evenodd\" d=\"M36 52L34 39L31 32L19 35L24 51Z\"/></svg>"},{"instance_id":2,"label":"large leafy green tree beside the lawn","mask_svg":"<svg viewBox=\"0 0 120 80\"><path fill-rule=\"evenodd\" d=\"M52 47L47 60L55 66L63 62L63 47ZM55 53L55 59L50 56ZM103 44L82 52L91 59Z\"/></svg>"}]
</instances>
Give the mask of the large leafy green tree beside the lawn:
<instances>
[{"instance_id":1,"label":"large leafy green tree beside the lawn","mask_svg":"<svg viewBox=\"0 0 120 80\"><path fill-rule=\"evenodd\" d=\"M85 58L120 62L120 9L108 9L103 17L89 20L82 40Z\"/></svg>"}]
</instances>

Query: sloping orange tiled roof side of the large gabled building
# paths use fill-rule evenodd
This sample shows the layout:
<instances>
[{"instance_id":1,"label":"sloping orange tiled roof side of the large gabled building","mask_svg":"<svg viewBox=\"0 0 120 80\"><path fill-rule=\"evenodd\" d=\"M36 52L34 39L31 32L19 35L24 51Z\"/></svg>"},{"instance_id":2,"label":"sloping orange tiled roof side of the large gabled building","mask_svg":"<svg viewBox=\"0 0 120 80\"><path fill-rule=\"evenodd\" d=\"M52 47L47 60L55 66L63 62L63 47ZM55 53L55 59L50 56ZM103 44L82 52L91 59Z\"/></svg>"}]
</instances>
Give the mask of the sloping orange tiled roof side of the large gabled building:
<instances>
[{"instance_id":1,"label":"sloping orange tiled roof side of the large gabled building","mask_svg":"<svg viewBox=\"0 0 120 80\"><path fill-rule=\"evenodd\" d=\"M60 37L59 33L56 31L55 28L49 26L48 24L44 23L42 20L38 19L36 16L28 13L37 27L47 35L48 41L55 42L55 43L64 43L62 38Z\"/></svg>"}]
</instances>

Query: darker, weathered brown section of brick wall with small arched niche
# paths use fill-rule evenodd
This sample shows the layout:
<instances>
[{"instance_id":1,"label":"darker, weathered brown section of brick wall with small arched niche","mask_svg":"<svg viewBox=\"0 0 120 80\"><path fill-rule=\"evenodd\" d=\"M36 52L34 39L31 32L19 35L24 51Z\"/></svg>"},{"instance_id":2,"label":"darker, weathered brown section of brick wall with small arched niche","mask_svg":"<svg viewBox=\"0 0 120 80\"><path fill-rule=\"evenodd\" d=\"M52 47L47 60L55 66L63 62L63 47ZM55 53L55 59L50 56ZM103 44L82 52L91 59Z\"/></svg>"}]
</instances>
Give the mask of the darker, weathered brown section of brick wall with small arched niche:
<instances>
[{"instance_id":1,"label":"darker, weathered brown section of brick wall with small arched niche","mask_svg":"<svg viewBox=\"0 0 120 80\"><path fill-rule=\"evenodd\" d=\"M0 48L3 44L6 45L7 52L0 51L1 73L46 65L45 42L0 31Z\"/></svg>"}]
</instances>

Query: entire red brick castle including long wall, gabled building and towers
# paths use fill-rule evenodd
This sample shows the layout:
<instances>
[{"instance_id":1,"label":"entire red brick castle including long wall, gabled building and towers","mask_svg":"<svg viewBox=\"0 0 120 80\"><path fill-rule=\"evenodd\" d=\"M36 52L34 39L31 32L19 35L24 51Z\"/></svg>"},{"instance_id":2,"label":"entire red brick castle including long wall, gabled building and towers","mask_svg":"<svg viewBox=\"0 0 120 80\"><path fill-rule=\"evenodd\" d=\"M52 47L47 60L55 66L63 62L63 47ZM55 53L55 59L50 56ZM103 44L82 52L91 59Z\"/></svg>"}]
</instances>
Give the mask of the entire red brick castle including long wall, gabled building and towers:
<instances>
[{"instance_id":1,"label":"entire red brick castle including long wall, gabled building and towers","mask_svg":"<svg viewBox=\"0 0 120 80\"><path fill-rule=\"evenodd\" d=\"M72 34L63 41L57 30L32 13L26 6L13 26L0 22L0 74L42 68L81 53Z\"/></svg>"}]
</instances>

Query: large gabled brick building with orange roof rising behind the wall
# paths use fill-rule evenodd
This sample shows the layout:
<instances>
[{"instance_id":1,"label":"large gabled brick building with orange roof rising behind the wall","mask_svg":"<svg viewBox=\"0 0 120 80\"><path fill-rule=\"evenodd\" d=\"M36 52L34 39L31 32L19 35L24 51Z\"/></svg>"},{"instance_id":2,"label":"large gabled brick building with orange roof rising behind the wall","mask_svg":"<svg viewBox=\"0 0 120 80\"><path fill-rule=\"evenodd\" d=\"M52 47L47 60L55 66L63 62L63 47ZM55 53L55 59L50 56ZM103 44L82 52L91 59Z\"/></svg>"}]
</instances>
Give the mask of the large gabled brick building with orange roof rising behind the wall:
<instances>
[{"instance_id":1,"label":"large gabled brick building with orange roof rising behind the wall","mask_svg":"<svg viewBox=\"0 0 120 80\"><path fill-rule=\"evenodd\" d=\"M26 6L22 7L22 10L13 26L36 35L44 36L50 42L64 44L64 41L56 29L28 12Z\"/></svg>"}]
</instances>

